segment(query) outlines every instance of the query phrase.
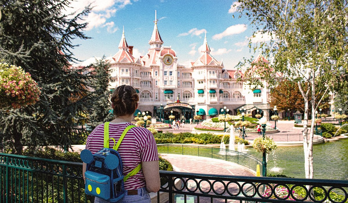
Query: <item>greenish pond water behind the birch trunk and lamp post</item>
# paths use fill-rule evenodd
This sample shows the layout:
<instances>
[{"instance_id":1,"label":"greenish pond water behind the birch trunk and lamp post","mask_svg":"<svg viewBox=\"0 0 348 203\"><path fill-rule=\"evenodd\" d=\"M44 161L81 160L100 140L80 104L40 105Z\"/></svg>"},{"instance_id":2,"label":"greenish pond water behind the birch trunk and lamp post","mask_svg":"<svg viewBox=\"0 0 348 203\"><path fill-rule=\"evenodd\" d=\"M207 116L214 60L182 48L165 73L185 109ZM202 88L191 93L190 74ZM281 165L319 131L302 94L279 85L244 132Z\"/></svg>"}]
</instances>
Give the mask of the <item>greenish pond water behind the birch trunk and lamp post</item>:
<instances>
[{"instance_id":1,"label":"greenish pond water behind the birch trunk and lamp post","mask_svg":"<svg viewBox=\"0 0 348 203\"><path fill-rule=\"evenodd\" d=\"M262 161L262 153L247 149L247 154ZM315 179L348 180L348 138L314 145L313 162ZM303 146L278 147L270 153L267 174L305 178Z\"/></svg>"}]
</instances>

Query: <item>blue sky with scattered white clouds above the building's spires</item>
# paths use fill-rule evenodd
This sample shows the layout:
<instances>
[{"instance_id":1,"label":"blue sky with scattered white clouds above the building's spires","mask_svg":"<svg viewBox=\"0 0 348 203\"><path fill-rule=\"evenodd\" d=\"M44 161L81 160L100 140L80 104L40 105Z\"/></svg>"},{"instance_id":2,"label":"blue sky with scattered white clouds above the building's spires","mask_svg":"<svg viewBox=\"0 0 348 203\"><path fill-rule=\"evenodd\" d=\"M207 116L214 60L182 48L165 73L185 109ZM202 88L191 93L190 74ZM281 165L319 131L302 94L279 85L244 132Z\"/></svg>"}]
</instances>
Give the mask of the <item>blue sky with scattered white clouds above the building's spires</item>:
<instances>
[{"instance_id":1,"label":"blue sky with scattered white clouds above the building's spires","mask_svg":"<svg viewBox=\"0 0 348 203\"><path fill-rule=\"evenodd\" d=\"M125 38L129 46L134 46L133 55L143 56L148 52L148 44L157 10L158 31L163 46L175 50L180 65L188 66L200 55L206 32L211 55L223 60L226 69L235 69L243 57L254 54L248 48L248 39L253 36L253 28L248 19L239 13L231 0L185 1L185 0L76 0L66 13L81 10L89 3L94 8L85 20L89 23L84 31L92 39L75 39L79 44L72 50L80 64L88 65L94 57L112 56L118 52L118 44L124 26ZM233 17L235 16L235 18ZM268 36L256 34L253 42L269 40Z\"/></svg>"}]
</instances>

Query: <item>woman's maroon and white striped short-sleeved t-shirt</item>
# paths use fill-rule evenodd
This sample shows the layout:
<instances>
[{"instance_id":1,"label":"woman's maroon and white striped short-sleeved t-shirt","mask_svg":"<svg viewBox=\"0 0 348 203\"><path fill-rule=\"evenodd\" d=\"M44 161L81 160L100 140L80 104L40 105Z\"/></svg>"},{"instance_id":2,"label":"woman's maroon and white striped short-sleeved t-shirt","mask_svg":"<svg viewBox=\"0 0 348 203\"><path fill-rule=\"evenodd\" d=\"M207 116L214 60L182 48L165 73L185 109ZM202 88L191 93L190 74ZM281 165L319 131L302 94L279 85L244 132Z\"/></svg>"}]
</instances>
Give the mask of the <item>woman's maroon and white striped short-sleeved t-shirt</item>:
<instances>
[{"instance_id":1,"label":"woman's maroon and white striped short-sleeved t-shirt","mask_svg":"<svg viewBox=\"0 0 348 203\"><path fill-rule=\"evenodd\" d=\"M116 142L120 138L122 132L131 123L110 123L109 138L114 138ZM114 145L110 140L109 147ZM104 124L98 125L87 137L86 149L93 154L104 147ZM123 164L123 174L127 175L141 162L149 162L159 160L157 145L152 133L143 127L131 128L123 138L121 145L117 149L121 156ZM132 190L145 187L145 177L143 170L133 175L125 182L125 189Z\"/></svg>"}]
</instances>

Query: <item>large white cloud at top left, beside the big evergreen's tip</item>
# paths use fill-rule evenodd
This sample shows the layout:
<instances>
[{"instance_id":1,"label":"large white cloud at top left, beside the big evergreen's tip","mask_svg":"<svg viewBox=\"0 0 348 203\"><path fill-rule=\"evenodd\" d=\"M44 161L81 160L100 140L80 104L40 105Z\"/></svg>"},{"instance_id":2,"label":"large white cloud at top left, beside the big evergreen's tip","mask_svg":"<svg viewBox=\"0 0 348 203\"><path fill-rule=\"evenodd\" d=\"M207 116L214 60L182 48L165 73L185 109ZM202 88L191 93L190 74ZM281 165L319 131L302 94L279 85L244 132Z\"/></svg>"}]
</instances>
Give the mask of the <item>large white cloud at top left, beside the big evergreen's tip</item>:
<instances>
[{"instance_id":1,"label":"large white cloud at top left, beside the big evergreen's tip","mask_svg":"<svg viewBox=\"0 0 348 203\"><path fill-rule=\"evenodd\" d=\"M91 5L91 7L93 7L92 11L87 16L83 17L83 20L85 20L84 22L88 22L86 30L106 27L108 32L113 33L116 32L118 28L114 28L114 22L106 23L107 19L112 17L117 10L129 4L132 4L131 0L75 0L71 1L69 7L64 8L63 13L65 15L70 15L74 12L79 13L85 7ZM72 18L73 16L70 17Z\"/></svg>"}]
</instances>

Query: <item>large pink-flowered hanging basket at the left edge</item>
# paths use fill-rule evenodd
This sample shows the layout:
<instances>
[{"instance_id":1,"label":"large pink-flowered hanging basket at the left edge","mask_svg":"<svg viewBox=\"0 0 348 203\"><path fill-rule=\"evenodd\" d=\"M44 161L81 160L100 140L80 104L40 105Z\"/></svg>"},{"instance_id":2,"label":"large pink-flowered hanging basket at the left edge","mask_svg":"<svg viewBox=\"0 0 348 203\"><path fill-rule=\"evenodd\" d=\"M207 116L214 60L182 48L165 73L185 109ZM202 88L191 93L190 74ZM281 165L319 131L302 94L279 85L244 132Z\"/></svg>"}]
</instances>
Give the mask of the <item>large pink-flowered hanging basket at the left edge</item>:
<instances>
[{"instance_id":1,"label":"large pink-flowered hanging basket at the left edge","mask_svg":"<svg viewBox=\"0 0 348 203\"><path fill-rule=\"evenodd\" d=\"M18 109L39 101L41 91L21 67L0 63L0 108Z\"/></svg>"}]
</instances>

